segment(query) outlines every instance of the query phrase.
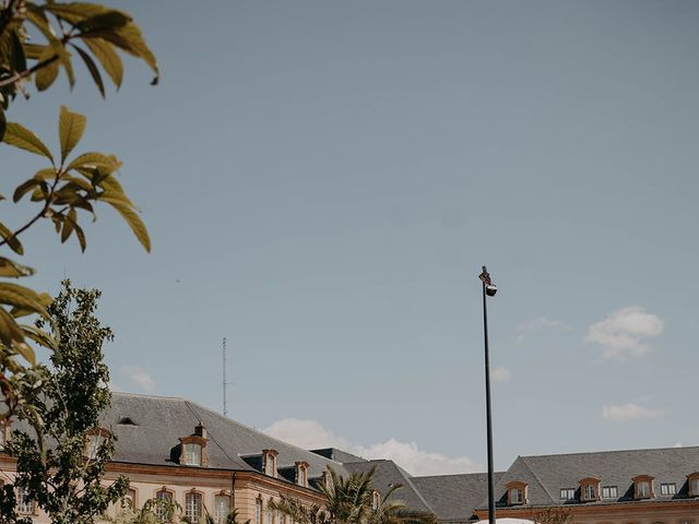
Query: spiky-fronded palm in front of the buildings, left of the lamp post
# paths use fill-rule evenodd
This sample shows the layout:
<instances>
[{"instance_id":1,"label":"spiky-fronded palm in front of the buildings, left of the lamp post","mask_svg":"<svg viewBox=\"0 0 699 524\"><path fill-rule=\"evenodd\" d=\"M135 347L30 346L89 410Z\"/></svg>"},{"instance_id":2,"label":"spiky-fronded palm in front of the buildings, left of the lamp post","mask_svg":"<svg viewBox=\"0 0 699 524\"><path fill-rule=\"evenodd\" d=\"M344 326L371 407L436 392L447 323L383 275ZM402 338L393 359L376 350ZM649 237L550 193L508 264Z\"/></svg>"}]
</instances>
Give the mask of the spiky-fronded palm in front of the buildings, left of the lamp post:
<instances>
[{"instance_id":1,"label":"spiky-fronded palm in front of the buildings, left of the lamp post","mask_svg":"<svg viewBox=\"0 0 699 524\"><path fill-rule=\"evenodd\" d=\"M270 501L272 510L280 511L298 524L435 524L431 513L408 509L400 501L392 500L395 491L403 486L395 485L375 508L371 484L376 469L353 473L346 477L328 467L330 483L318 485L323 497L322 504L306 504L303 501L282 496L279 501Z\"/></svg>"}]
</instances>

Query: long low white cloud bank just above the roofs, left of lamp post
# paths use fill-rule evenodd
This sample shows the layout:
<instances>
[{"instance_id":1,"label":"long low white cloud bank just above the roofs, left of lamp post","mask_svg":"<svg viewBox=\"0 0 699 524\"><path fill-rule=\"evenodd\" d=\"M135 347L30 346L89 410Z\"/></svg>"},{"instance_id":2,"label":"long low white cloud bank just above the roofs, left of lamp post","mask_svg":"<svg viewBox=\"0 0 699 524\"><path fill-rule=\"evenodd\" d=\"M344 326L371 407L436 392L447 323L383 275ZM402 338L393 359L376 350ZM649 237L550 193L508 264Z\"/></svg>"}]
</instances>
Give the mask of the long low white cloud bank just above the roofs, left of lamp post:
<instances>
[{"instance_id":1,"label":"long low white cloud bank just above the roofs, left of lamp post","mask_svg":"<svg viewBox=\"0 0 699 524\"><path fill-rule=\"evenodd\" d=\"M352 444L323 428L317 420L277 420L264 432L307 450L337 448L365 458L390 458L413 475L482 471L482 467L467 456L449 457L441 453L427 452L420 450L415 442L401 442L394 438L369 445Z\"/></svg>"}]
</instances>

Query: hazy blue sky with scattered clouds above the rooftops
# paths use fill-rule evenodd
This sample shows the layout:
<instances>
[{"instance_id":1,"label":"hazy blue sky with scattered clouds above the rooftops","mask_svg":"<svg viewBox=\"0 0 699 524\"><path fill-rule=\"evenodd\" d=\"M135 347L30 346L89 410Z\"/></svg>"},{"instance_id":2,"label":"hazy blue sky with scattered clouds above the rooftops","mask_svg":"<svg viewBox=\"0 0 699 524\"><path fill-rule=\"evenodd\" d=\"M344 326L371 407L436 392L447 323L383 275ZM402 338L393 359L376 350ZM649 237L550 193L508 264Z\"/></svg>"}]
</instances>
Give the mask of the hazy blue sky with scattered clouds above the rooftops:
<instances>
[{"instance_id":1,"label":"hazy blue sky with scattered clouds above the rooftops","mask_svg":"<svg viewBox=\"0 0 699 524\"><path fill-rule=\"evenodd\" d=\"M84 255L25 238L34 286L103 289L119 388L220 408L226 336L229 416L482 468L486 263L497 467L699 443L699 4L118 5L161 85L81 71L9 118L56 144L67 104L125 160L152 254L110 210ZM43 167L2 155L7 184Z\"/></svg>"}]
</instances>

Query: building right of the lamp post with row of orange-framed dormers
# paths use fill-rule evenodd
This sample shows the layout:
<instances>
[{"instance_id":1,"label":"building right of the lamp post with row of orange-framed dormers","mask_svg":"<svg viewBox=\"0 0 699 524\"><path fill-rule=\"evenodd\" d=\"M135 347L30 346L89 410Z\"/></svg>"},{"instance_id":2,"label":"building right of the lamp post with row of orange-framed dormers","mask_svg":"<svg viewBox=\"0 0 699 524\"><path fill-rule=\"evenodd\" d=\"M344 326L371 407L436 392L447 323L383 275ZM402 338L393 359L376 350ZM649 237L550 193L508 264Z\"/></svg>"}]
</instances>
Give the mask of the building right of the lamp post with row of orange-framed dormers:
<instances>
[{"instance_id":1,"label":"building right of the lamp post with row of orange-framed dormers","mask_svg":"<svg viewBox=\"0 0 699 524\"><path fill-rule=\"evenodd\" d=\"M520 456L495 496L502 517L556 507L576 524L699 524L699 448ZM475 513L487 519L487 499Z\"/></svg>"}]
</instances>

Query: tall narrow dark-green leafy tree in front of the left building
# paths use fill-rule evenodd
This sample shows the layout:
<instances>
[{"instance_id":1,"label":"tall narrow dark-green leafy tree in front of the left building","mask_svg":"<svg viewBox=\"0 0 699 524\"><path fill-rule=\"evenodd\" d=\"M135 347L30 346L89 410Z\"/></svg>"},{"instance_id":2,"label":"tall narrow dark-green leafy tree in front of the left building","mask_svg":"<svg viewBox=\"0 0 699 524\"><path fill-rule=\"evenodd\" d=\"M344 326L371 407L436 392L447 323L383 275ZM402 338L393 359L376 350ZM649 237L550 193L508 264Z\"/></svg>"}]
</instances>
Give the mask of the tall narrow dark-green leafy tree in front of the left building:
<instances>
[{"instance_id":1,"label":"tall narrow dark-green leafy tree in front of the left building","mask_svg":"<svg viewBox=\"0 0 699 524\"><path fill-rule=\"evenodd\" d=\"M2 523L31 522L16 513L15 488L55 524L91 524L127 491L126 477L108 486L102 483L115 439L99 429L99 416L111 398L102 346L112 333L95 317L98 297L99 291L74 289L66 281L47 308L51 329L62 336L51 354L51 368L33 368L40 381L23 392L32 408L20 407L13 417L16 429L7 451L17 461L16 476L3 487Z\"/></svg>"}]
</instances>

